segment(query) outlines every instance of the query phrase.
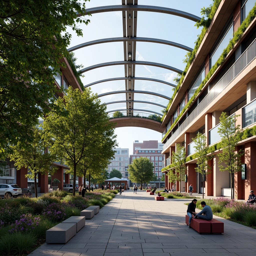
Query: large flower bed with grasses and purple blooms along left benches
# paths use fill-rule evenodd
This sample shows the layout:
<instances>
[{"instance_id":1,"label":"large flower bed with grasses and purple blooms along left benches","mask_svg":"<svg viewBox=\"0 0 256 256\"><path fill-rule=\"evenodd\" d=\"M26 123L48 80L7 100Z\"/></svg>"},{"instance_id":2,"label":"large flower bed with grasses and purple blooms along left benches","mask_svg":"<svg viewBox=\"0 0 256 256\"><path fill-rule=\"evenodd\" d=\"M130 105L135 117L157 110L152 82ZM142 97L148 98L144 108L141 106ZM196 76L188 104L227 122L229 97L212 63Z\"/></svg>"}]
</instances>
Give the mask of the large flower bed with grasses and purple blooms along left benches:
<instances>
[{"instance_id":1,"label":"large flower bed with grasses and purple blooms along left benches","mask_svg":"<svg viewBox=\"0 0 256 256\"><path fill-rule=\"evenodd\" d=\"M118 190L97 189L85 197L59 190L38 198L0 199L0 255L23 255L45 242L46 230L90 205L103 207Z\"/></svg>"}]
</instances>

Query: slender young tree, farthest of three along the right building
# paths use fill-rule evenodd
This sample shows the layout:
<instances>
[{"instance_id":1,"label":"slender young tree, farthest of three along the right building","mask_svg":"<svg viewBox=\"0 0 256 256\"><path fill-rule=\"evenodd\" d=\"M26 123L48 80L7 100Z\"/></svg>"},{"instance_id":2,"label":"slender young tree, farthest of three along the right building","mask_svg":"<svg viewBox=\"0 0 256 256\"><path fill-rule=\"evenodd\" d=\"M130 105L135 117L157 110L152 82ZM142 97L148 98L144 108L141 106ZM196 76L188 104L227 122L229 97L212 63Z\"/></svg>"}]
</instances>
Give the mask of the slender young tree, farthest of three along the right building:
<instances>
[{"instance_id":1,"label":"slender young tree, farthest of three along the right building","mask_svg":"<svg viewBox=\"0 0 256 256\"><path fill-rule=\"evenodd\" d=\"M179 181L179 191L181 191L181 182L185 180L185 170L186 170L186 150L185 147L181 147L180 144L176 145L176 152L173 151L172 156L172 164L175 171L171 169L168 173L169 180L172 182Z\"/></svg>"}]
</instances>

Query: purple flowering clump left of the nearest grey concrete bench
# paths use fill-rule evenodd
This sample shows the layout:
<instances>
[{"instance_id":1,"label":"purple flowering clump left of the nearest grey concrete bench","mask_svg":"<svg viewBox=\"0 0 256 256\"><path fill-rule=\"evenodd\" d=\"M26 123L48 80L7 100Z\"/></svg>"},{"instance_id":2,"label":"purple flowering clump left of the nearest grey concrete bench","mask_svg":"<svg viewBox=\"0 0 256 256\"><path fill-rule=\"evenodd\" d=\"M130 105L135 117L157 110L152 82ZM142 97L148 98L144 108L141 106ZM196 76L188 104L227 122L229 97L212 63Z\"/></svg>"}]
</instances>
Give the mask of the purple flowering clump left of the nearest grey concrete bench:
<instances>
[{"instance_id":1,"label":"purple flowering clump left of the nearest grey concrete bench","mask_svg":"<svg viewBox=\"0 0 256 256\"><path fill-rule=\"evenodd\" d=\"M31 214L23 214L20 216L19 220L16 220L15 223L11 225L12 229L9 232L13 233L15 231L27 232L33 230L38 226L40 221L39 217L34 217Z\"/></svg>"}]
</instances>

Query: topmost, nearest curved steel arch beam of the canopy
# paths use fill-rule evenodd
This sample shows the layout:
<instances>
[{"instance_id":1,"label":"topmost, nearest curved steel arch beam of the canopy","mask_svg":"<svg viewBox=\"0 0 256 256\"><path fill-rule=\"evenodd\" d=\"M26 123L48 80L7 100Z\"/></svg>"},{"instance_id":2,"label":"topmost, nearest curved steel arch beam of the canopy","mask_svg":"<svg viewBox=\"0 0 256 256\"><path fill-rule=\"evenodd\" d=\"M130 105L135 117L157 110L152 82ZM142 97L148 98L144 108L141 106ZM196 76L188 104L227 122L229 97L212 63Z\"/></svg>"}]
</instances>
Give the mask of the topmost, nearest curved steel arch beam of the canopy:
<instances>
[{"instance_id":1,"label":"topmost, nearest curved steel arch beam of the canopy","mask_svg":"<svg viewBox=\"0 0 256 256\"><path fill-rule=\"evenodd\" d=\"M144 12L156 12L156 13L166 13L166 14L172 14L179 17L183 17L186 19L193 20L195 22L200 21L201 18L193 15L191 13L183 12L180 10L167 8L167 7L160 7L160 6L149 6L149 5L110 5L110 6L99 6L94 8L87 9L87 12L84 13L84 15L87 15L88 13L103 13L103 12L116 12L116 11L144 11ZM81 17L82 14L77 13L78 17Z\"/></svg>"}]
</instances>

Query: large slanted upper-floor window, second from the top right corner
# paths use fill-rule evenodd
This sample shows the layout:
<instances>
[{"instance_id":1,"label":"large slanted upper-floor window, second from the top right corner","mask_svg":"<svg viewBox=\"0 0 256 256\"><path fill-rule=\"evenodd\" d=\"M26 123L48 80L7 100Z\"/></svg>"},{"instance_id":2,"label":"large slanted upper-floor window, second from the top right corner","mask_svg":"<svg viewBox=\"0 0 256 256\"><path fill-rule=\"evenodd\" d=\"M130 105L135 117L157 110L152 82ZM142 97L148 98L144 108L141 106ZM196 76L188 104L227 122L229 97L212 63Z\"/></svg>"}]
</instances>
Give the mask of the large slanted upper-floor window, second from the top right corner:
<instances>
[{"instance_id":1,"label":"large slanted upper-floor window, second from the top right corner","mask_svg":"<svg viewBox=\"0 0 256 256\"><path fill-rule=\"evenodd\" d=\"M210 55L210 68L216 63L223 50L228 46L230 39L233 38L233 19L228 24L227 28L223 32L220 40L215 46L214 50Z\"/></svg>"}]
</instances>

